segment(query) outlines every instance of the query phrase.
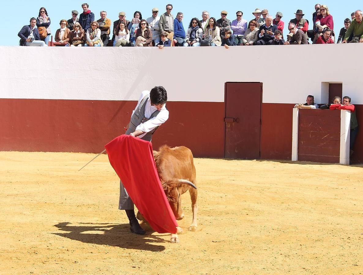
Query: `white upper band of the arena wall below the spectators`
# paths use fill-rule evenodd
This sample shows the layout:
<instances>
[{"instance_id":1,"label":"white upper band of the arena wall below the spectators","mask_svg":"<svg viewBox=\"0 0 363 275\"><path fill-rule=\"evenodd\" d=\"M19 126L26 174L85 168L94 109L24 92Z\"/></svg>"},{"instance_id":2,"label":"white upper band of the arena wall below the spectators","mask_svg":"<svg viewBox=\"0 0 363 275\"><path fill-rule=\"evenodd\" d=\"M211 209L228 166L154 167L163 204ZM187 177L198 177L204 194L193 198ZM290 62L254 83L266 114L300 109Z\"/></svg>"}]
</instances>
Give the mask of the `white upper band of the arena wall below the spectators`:
<instances>
[{"instance_id":1,"label":"white upper band of the arena wall below the spectators","mask_svg":"<svg viewBox=\"0 0 363 275\"><path fill-rule=\"evenodd\" d=\"M326 83L363 104L360 43L224 47L0 46L0 97L137 100L164 86L171 101L224 101L225 82L262 82L264 103L326 103Z\"/></svg>"}]
</instances>

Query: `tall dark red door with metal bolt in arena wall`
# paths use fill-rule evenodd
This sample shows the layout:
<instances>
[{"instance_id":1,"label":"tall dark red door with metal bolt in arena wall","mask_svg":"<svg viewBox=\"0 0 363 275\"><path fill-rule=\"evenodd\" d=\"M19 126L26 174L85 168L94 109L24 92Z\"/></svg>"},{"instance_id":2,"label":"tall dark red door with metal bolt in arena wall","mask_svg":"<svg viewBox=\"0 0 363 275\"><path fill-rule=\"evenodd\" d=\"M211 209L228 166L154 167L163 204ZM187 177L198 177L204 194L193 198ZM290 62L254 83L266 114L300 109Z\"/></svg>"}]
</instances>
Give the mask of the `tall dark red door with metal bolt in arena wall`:
<instances>
[{"instance_id":1,"label":"tall dark red door with metal bolt in arena wall","mask_svg":"<svg viewBox=\"0 0 363 275\"><path fill-rule=\"evenodd\" d=\"M262 83L225 84L225 158L260 158Z\"/></svg>"}]
</instances>

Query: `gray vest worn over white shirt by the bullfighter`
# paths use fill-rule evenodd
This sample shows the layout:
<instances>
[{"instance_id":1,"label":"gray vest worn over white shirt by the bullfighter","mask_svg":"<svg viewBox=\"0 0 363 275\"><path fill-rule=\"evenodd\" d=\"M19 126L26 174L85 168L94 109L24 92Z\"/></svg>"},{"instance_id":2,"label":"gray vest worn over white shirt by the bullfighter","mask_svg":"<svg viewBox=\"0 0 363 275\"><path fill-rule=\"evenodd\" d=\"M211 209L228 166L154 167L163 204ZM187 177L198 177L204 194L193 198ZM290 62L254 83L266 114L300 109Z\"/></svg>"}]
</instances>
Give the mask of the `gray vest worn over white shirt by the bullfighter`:
<instances>
[{"instance_id":1,"label":"gray vest worn over white shirt by the bullfighter","mask_svg":"<svg viewBox=\"0 0 363 275\"><path fill-rule=\"evenodd\" d=\"M138 107L136 107L134 114L131 116L131 120L129 123L129 129L126 131L126 135L129 135L132 132L135 132L136 127L139 126L141 123L148 121L149 119L156 117L158 113L160 113L159 110L156 110L154 113L151 114L149 118L145 117L145 106L148 100L148 96L145 96ZM150 132L148 132L145 136L143 136L141 139L146 141L151 141L151 136L154 134L155 130L158 129L158 127L155 127Z\"/></svg>"}]
</instances>

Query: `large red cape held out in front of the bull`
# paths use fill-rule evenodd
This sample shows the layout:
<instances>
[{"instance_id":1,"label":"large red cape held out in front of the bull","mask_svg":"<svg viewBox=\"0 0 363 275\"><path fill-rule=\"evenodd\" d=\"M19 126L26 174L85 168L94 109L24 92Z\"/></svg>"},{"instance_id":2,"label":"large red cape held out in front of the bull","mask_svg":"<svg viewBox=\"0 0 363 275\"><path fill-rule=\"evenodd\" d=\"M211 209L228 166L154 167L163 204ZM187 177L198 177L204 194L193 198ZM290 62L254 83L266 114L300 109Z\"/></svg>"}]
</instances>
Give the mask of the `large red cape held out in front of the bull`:
<instances>
[{"instance_id":1,"label":"large red cape held out in front of the bull","mask_svg":"<svg viewBox=\"0 0 363 275\"><path fill-rule=\"evenodd\" d=\"M151 142L122 135L105 148L111 166L152 229L175 234L178 224L160 183Z\"/></svg>"}]
</instances>

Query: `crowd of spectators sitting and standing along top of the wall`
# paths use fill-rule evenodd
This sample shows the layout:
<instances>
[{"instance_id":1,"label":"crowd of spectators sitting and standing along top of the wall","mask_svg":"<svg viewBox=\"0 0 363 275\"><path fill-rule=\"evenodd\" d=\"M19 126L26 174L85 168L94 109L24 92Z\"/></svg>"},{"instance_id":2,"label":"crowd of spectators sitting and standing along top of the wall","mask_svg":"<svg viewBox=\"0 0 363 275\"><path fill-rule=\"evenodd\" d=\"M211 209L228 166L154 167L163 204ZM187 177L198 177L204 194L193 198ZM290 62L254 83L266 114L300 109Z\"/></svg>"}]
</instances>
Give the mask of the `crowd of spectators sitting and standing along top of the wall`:
<instances>
[{"instance_id":1,"label":"crowd of spectators sitting and standing along top of the wall","mask_svg":"<svg viewBox=\"0 0 363 275\"><path fill-rule=\"evenodd\" d=\"M312 30L309 30L309 21L304 18L303 11L298 9L295 18L288 23L286 40L282 13L276 12L273 17L268 9L261 11L256 8L252 12L254 18L249 21L243 18L242 11L237 11L232 21L227 18L225 10L221 11L219 19L203 11L201 19L192 18L185 31L182 23L184 15L178 12L174 18L172 4L167 4L161 15L158 8L153 8L147 19L143 19L141 12L135 11L129 21L125 12L119 12L119 19L113 23L107 18L106 11L100 11L99 19L95 20L89 5L84 3L81 6L81 14L73 10L72 18L60 20L60 27L54 34L54 46L158 46L160 49L165 46L224 46L228 49L230 46L331 44L335 40L337 43L363 42L361 10L351 13L351 18L344 20L344 27L336 39L333 16L323 4L314 7ZM52 34L50 23L46 8L41 7L38 17L30 18L30 24L18 33L19 44L48 46Z\"/></svg>"}]
</instances>

